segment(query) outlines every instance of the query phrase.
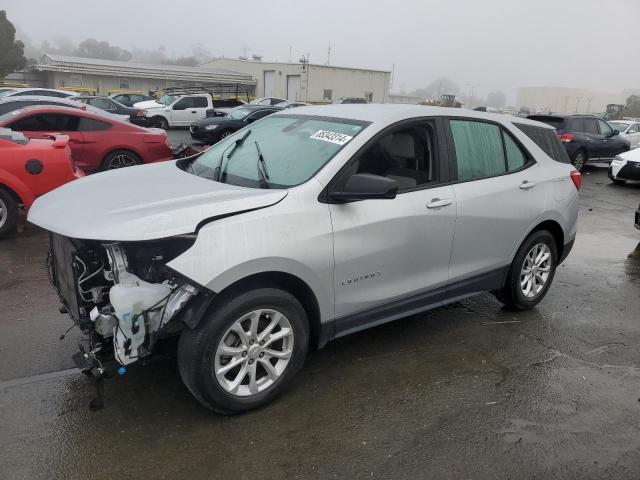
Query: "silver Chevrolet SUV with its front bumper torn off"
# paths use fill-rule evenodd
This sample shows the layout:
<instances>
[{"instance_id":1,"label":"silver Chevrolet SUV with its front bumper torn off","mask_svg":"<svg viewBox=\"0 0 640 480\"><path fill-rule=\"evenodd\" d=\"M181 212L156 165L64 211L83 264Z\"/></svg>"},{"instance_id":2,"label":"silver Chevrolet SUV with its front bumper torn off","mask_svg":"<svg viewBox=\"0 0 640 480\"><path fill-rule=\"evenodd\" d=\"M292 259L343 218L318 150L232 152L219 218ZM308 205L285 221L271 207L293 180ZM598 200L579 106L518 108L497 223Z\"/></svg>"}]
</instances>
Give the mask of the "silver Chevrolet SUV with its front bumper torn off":
<instances>
[{"instance_id":1,"label":"silver Chevrolet SUV with its front bumper torn off","mask_svg":"<svg viewBox=\"0 0 640 480\"><path fill-rule=\"evenodd\" d=\"M579 187L542 123L328 105L76 180L29 220L51 232L53 283L89 337L82 369L101 375L107 349L123 369L180 335L187 388L235 413L334 338L487 291L534 307L573 245Z\"/></svg>"}]
</instances>

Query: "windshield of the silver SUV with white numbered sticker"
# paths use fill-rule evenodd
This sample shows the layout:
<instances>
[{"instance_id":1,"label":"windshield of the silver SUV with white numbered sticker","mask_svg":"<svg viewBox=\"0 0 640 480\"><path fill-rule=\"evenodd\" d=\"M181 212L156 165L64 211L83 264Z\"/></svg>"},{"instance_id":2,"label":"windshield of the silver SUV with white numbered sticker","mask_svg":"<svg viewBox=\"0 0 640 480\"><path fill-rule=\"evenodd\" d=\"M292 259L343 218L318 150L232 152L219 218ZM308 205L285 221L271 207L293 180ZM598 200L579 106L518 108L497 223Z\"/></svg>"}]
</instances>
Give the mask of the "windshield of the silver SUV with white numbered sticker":
<instances>
[{"instance_id":1,"label":"windshield of the silver SUV with white numbered sticker","mask_svg":"<svg viewBox=\"0 0 640 480\"><path fill-rule=\"evenodd\" d=\"M270 188L294 187L313 177L367 125L357 120L307 115L268 116L209 148L188 170L213 180L223 153L244 137L244 142L233 149L233 156L228 160L225 157L222 169L226 183L260 186L258 142Z\"/></svg>"}]
</instances>

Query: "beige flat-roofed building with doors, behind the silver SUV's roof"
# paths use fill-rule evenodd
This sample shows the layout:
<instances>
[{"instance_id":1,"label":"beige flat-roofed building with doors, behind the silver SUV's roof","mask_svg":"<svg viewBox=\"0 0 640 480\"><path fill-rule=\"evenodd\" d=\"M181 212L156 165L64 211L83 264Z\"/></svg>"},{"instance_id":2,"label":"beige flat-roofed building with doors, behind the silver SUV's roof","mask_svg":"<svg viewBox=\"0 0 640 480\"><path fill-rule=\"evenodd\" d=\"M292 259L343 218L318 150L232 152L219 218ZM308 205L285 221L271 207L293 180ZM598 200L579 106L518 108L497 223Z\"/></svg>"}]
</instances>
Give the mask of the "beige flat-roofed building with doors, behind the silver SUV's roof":
<instances>
[{"instance_id":1,"label":"beige flat-roofed building with doors, behind the silver SUV's roof","mask_svg":"<svg viewBox=\"0 0 640 480\"><path fill-rule=\"evenodd\" d=\"M303 102L332 102L340 97L362 97L369 102L388 101L391 72L303 63L263 62L215 58L202 69L232 70L251 75L257 97L280 97Z\"/></svg>"}]
</instances>

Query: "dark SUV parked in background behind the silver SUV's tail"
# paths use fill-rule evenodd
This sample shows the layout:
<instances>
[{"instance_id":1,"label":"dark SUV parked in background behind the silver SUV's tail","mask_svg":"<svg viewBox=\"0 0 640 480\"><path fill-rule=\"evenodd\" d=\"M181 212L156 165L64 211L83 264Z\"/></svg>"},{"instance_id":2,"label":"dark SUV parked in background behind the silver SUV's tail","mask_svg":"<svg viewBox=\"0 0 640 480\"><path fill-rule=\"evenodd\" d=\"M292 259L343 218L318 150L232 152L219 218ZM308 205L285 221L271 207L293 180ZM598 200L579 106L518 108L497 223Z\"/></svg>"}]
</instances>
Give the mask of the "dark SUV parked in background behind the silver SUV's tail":
<instances>
[{"instance_id":1,"label":"dark SUV parked in background behind the silver SUV's tail","mask_svg":"<svg viewBox=\"0 0 640 480\"><path fill-rule=\"evenodd\" d=\"M604 120L593 115L529 115L527 118L546 123L556 133L576 170L589 161L611 161L630 149L629 141L618 135Z\"/></svg>"}]
</instances>

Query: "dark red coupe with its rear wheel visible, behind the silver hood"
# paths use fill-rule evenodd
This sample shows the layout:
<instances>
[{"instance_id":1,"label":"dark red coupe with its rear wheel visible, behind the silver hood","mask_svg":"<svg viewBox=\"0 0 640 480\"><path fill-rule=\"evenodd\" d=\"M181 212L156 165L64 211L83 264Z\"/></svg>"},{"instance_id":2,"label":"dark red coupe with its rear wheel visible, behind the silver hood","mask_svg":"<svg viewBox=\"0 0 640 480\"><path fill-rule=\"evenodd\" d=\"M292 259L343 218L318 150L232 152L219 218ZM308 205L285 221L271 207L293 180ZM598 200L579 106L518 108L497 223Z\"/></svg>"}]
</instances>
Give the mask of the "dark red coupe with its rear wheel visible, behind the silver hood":
<instances>
[{"instance_id":1,"label":"dark red coupe with its rear wheel visible, behind the silver hood","mask_svg":"<svg viewBox=\"0 0 640 480\"><path fill-rule=\"evenodd\" d=\"M141 163L170 160L167 134L109 116L70 107L37 105L0 116L0 127L23 132L31 138L48 133L69 136L78 166L86 171L110 170Z\"/></svg>"}]
</instances>

